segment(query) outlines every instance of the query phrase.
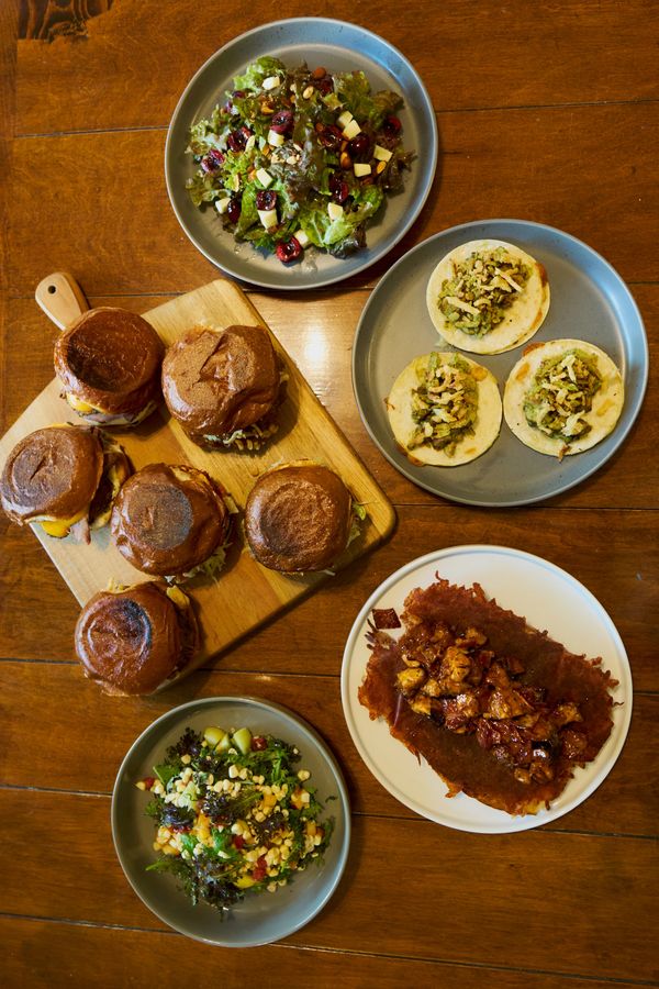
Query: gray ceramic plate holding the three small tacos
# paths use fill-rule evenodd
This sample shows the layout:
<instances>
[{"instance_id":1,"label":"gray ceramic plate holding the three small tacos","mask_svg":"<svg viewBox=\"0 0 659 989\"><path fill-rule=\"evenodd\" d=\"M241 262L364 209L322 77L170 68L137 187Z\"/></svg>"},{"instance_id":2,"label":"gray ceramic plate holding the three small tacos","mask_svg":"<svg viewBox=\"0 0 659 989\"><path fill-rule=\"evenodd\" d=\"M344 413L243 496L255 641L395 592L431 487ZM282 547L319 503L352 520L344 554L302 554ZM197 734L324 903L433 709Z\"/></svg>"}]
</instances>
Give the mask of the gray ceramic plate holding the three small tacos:
<instances>
[{"instance_id":1,"label":"gray ceramic plate holding the three small tacos","mask_svg":"<svg viewBox=\"0 0 659 989\"><path fill-rule=\"evenodd\" d=\"M434 267L459 244L496 237L517 244L547 269L551 304L533 342L571 337L605 351L621 368L625 405L610 436L590 451L558 462L524 446L505 421L493 446L460 467L416 467L396 447L384 399L402 368L420 354L450 349L426 309ZM488 367L503 393L523 347L505 354L470 354ZM640 313L619 275L581 241L539 223L487 220L465 223L423 241L405 254L370 296L355 335L353 387L361 419L387 459L411 481L453 501L482 507L518 505L567 491L594 474L618 448L636 419L648 377L648 345Z\"/></svg>"}]
</instances>

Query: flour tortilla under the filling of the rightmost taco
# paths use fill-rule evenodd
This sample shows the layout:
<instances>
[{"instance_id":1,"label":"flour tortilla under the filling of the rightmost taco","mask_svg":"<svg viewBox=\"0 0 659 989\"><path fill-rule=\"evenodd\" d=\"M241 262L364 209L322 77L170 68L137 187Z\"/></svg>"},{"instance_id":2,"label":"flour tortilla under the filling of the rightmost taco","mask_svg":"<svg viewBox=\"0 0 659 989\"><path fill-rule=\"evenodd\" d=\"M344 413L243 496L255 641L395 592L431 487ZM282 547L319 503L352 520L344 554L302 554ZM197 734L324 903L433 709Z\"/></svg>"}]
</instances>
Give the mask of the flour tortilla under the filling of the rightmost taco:
<instances>
[{"instance_id":1,"label":"flour tortilla under the filling of the rightmost taco","mask_svg":"<svg viewBox=\"0 0 659 989\"><path fill-rule=\"evenodd\" d=\"M573 442L567 443L565 440L548 436L527 422L524 414L524 399L543 360L573 349L583 351L595 360L602 377L602 386L593 397L591 411L582 416L590 424L590 431L585 436L576 436ZM544 344L530 344L513 367L505 382L503 412L509 426L525 446L560 459L590 449L604 440L615 427L623 411L624 400L622 375L604 351L583 340L550 340Z\"/></svg>"}]
</instances>

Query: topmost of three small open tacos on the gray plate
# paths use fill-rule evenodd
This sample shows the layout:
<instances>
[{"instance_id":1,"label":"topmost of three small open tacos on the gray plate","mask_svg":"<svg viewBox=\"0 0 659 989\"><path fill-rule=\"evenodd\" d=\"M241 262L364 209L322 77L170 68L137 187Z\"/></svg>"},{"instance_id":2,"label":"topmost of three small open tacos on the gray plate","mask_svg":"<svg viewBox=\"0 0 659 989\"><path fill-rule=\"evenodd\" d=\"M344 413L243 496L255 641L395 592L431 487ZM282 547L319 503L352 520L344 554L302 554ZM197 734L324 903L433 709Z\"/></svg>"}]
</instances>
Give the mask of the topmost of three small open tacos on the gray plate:
<instances>
[{"instance_id":1,"label":"topmost of three small open tacos on the gray plate","mask_svg":"<svg viewBox=\"0 0 659 989\"><path fill-rule=\"evenodd\" d=\"M426 303L444 340L472 354L501 354L539 330L549 309L547 273L504 241L469 241L444 257Z\"/></svg>"}]
</instances>

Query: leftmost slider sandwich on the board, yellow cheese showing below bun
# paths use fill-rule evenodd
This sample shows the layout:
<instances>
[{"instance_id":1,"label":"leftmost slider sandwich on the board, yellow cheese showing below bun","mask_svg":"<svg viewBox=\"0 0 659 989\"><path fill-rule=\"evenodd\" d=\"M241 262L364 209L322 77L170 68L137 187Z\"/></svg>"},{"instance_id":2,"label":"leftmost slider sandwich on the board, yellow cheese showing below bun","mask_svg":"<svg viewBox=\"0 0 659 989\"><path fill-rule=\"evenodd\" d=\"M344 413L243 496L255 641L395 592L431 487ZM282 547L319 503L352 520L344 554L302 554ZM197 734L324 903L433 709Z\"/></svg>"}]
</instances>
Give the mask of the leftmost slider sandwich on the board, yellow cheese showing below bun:
<instances>
[{"instance_id":1,"label":"leftmost slider sandwich on the board, yellow cheese showing below bun","mask_svg":"<svg viewBox=\"0 0 659 989\"><path fill-rule=\"evenodd\" d=\"M0 477L0 502L13 522L38 522L56 538L110 521L131 465L122 447L101 430L52 425L30 433L10 453Z\"/></svg>"}]
</instances>

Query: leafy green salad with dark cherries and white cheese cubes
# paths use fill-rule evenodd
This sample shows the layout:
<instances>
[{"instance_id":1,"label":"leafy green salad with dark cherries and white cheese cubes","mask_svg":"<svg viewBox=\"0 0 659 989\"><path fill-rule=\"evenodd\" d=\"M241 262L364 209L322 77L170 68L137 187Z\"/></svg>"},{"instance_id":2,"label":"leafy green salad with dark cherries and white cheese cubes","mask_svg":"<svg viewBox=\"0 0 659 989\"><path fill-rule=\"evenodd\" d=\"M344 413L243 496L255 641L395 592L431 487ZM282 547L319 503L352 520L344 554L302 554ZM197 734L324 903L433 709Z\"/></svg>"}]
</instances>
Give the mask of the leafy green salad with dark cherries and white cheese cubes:
<instances>
[{"instance_id":1,"label":"leafy green salad with dark cherries and white cheese cubes","mask_svg":"<svg viewBox=\"0 0 659 989\"><path fill-rule=\"evenodd\" d=\"M310 245L338 257L366 243L368 221L403 187L402 98L371 92L361 71L289 70L265 56L190 131L198 169L187 188L213 203L238 241L295 262Z\"/></svg>"}]
</instances>

